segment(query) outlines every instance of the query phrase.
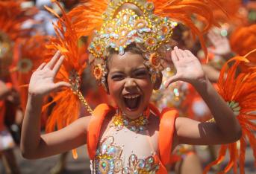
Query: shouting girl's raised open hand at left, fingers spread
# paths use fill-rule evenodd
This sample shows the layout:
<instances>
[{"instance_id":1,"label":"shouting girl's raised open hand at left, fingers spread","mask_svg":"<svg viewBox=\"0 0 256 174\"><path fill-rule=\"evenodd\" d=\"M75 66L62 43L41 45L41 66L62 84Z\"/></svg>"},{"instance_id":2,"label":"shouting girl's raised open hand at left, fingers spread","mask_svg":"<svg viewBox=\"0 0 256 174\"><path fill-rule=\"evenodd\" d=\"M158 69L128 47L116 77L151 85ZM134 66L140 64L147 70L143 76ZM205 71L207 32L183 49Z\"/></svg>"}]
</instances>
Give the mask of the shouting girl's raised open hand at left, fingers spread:
<instances>
[{"instance_id":1,"label":"shouting girl's raised open hand at left, fingers spread","mask_svg":"<svg viewBox=\"0 0 256 174\"><path fill-rule=\"evenodd\" d=\"M43 62L31 76L28 86L28 94L37 97L43 97L51 91L55 91L61 87L70 87L66 82L54 83L54 78L60 69L64 56L60 56L60 51L46 63Z\"/></svg>"}]
</instances>

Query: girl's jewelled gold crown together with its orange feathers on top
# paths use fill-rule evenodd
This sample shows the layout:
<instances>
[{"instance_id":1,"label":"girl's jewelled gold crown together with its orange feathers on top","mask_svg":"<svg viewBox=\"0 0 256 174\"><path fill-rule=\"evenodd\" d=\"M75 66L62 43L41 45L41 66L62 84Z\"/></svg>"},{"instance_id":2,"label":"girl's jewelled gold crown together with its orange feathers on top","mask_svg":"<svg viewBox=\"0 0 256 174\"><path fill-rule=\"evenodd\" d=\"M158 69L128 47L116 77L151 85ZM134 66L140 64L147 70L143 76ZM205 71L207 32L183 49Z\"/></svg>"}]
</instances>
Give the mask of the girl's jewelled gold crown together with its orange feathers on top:
<instances>
[{"instance_id":1,"label":"girl's jewelled gold crown together with its orange feathers on top","mask_svg":"<svg viewBox=\"0 0 256 174\"><path fill-rule=\"evenodd\" d=\"M89 51L93 57L93 74L100 84L105 84L107 74L104 53L107 48L114 48L119 54L124 53L126 46L132 42L143 45L146 54L146 65L149 66L152 81L161 71L161 51L166 51L163 45L171 40L172 30L177 21L187 25L199 36L202 47L207 53L202 33L212 25L218 25L210 10L210 5L219 7L216 0L174 0L174 1L82 1L83 5L76 7L68 16L72 16L75 28L87 36L93 36ZM125 11L125 9L128 9ZM203 28L196 27L191 16L200 16ZM93 35L93 30L96 34ZM105 41L105 42L104 42Z\"/></svg>"}]
</instances>

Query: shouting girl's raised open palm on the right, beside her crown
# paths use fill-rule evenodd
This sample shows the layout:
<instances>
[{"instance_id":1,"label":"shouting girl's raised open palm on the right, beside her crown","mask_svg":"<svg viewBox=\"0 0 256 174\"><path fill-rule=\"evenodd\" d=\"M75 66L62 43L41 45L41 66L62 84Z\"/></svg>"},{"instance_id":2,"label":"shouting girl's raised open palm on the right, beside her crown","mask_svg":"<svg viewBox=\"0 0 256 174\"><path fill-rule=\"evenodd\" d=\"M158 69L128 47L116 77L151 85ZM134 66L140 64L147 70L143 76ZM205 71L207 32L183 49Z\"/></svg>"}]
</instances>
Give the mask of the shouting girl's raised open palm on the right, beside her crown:
<instances>
[{"instance_id":1,"label":"shouting girl's raised open palm on the right, beside her crown","mask_svg":"<svg viewBox=\"0 0 256 174\"><path fill-rule=\"evenodd\" d=\"M205 80L205 72L202 69L199 59L190 51L175 47L172 51L172 62L177 72L166 81L166 88L169 84L178 80L191 83L192 85L199 83L200 80Z\"/></svg>"}]
</instances>

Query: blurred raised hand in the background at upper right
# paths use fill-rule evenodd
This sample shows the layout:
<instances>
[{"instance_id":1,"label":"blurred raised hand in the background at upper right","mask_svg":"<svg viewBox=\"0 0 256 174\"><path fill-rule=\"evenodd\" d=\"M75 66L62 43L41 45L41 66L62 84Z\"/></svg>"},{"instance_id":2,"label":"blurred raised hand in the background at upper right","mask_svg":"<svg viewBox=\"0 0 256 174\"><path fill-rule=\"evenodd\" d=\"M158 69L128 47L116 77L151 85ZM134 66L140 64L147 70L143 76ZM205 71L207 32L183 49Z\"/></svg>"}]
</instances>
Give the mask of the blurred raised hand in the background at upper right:
<instances>
[{"instance_id":1,"label":"blurred raised hand in the background at upper right","mask_svg":"<svg viewBox=\"0 0 256 174\"><path fill-rule=\"evenodd\" d=\"M214 28L207 33L207 37L210 42L213 44L214 48L208 48L209 52L217 54L219 56L225 56L231 53L231 47L228 41L228 38L220 35L220 30Z\"/></svg>"}]
</instances>

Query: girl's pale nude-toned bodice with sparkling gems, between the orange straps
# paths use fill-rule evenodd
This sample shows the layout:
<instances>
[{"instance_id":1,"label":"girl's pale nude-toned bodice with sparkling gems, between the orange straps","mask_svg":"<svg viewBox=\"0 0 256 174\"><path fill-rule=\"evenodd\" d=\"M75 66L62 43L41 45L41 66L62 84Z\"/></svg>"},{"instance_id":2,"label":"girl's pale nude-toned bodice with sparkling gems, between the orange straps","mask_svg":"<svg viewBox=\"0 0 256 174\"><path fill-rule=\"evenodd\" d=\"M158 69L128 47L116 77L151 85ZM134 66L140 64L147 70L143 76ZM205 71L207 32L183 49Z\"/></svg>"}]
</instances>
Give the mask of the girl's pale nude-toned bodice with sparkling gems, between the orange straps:
<instances>
[{"instance_id":1,"label":"girl's pale nude-toned bodice with sparkling gems, between the orange straps","mask_svg":"<svg viewBox=\"0 0 256 174\"><path fill-rule=\"evenodd\" d=\"M101 138L93 163L93 173L157 173L157 145L146 130L137 133L127 127L110 127Z\"/></svg>"}]
</instances>

